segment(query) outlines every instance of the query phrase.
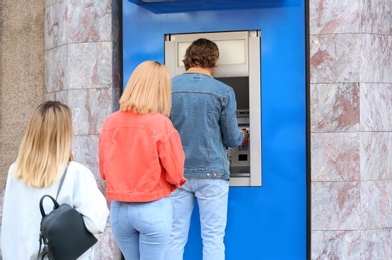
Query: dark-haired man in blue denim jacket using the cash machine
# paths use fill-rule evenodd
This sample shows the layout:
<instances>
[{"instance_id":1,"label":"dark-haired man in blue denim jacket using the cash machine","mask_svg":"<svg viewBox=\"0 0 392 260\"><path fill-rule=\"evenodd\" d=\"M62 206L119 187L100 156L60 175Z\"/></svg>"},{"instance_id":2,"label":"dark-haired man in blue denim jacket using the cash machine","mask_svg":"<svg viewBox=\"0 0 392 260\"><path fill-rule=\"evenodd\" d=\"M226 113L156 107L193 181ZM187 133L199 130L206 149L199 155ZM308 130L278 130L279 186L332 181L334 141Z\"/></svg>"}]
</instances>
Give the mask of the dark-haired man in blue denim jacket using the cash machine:
<instances>
[{"instance_id":1,"label":"dark-haired man in blue denim jacket using the cash machine","mask_svg":"<svg viewBox=\"0 0 392 260\"><path fill-rule=\"evenodd\" d=\"M172 80L170 118L183 144L187 182L171 194L173 227L166 260L183 259L196 199L203 260L225 259L230 178L226 149L239 146L248 133L238 128L234 90L212 77L218 58L214 42L198 39L186 50L186 72Z\"/></svg>"}]
</instances>

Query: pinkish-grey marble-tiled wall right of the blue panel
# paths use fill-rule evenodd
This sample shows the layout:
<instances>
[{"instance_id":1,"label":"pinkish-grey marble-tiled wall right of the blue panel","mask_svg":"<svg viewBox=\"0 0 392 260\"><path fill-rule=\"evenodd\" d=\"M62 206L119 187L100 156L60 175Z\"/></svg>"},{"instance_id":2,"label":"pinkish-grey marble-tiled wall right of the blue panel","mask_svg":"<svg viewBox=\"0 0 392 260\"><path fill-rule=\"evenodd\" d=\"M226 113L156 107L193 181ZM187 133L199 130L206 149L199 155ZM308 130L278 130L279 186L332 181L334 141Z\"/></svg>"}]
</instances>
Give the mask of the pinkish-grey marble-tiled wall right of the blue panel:
<instances>
[{"instance_id":1,"label":"pinkish-grey marble-tiled wall right of the blue panel","mask_svg":"<svg viewBox=\"0 0 392 260\"><path fill-rule=\"evenodd\" d=\"M310 1L311 258L392 259L392 1Z\"/></svg>"}]
</instances>

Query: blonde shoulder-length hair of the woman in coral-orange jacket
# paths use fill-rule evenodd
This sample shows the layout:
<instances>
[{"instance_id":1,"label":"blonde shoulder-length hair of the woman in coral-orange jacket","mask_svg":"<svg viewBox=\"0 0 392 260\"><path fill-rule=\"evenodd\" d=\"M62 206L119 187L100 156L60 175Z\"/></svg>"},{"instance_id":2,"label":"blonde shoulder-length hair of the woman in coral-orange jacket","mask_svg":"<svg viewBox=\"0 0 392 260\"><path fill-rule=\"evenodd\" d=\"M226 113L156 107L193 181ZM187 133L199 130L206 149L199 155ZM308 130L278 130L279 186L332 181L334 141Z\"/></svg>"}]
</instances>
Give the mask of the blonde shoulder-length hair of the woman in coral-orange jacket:
<instances>
[{"instance_id":1,"label":"blonde shoulder-length hair of the woman in coral-orange jacket","mask_svg":"<svg viewBox=\"0 0 392 260\"><path fill-rule=\"evenodd\" d=\"M120 110L138 114L158 112L169 116L171 109L171 79L165 65L156 61L139 64L128 80L120 98Z\"/></svg>"}]
</instances>

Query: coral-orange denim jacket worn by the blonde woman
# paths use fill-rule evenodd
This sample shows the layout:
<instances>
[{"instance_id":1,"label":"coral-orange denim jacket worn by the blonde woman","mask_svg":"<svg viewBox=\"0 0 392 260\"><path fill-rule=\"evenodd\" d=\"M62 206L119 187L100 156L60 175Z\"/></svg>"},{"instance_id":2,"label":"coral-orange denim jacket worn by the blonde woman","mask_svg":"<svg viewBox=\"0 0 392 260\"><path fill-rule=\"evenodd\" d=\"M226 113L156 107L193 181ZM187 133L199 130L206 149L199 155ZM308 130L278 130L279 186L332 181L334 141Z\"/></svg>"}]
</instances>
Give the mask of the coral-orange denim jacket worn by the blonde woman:
<instances>
[{"instance_id":1,"label":"coral-orange denim jacket worn by the blonde woman","mask_svg":"<svg viewBox=\"0 0 392 260\"><path fill-rule=\"evenodd\" d=\"M184 150L170 119L117 111L99 137L99 168L108 200L161 199L185 183Z\"/></svg>"}]
</instances>

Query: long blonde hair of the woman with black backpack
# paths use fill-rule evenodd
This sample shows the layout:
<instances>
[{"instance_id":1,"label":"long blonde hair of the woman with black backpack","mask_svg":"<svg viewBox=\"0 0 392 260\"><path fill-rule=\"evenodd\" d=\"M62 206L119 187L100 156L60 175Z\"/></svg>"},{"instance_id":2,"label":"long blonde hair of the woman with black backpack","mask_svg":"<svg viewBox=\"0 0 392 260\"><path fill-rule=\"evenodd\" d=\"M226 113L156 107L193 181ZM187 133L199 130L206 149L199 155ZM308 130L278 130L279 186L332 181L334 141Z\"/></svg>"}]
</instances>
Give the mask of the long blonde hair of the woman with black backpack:
<instances>
[{"instance_id":1,"label":"long blonde hair of the woman with black backpack","mask_svg":"<svg viewBox=\"0 0 392 260\"><path fill-rule=\"evenodd\" d=\"M72 114L67 105L47 101L35 110L23 136L14 176L29 186L51 185L72 155Z\"/></svg>"}]
</instances>

